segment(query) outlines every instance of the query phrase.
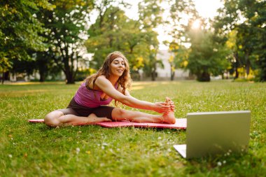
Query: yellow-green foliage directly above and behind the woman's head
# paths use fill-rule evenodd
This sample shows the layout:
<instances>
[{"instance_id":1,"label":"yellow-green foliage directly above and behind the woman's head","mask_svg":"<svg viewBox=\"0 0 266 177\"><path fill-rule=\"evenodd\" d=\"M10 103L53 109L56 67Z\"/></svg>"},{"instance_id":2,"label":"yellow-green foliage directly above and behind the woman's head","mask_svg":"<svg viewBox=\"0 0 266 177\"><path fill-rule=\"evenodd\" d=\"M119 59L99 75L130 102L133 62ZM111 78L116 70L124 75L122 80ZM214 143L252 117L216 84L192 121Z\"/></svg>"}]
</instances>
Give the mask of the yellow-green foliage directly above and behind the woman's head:
<instances>
[{"instance_id":1,"label":"yellow-green foliage directly above and behind the woman's head","mask_svg":"<svg viewBox=\"0 0 266 177\"><path fill-rule=\"evenodd\" d=\"M104 4L105 6L102 6ZM94 53L92 66L99 69L110 52L123 51L130 62L132 71L143 68L148 76L154 76L158 51L158 34L153 31L161 20L162 9L158 1L139 3L139 20L131 20L111 1L102 1L97 6L99 16L89 29L90 38L85 45ZM154 80L154 77L152 77Z\"/></svg>"}]
</instances>

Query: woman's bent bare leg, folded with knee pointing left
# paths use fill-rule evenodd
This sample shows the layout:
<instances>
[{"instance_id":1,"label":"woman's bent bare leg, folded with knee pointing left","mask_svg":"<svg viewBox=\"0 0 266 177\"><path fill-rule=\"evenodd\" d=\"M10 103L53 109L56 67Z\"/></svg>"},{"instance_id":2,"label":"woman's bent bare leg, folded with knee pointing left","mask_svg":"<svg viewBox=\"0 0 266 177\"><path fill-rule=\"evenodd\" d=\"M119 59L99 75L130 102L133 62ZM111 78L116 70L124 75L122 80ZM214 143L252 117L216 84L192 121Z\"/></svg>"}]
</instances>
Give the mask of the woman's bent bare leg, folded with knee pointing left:
<instances>
[{"instance_id":1,"label":"woman's bent bare leg, folded with knee pointing left","mask_svg":"<svg viewBox=\"0 0 266 177\"><path fill-rule=\"evenodd\" d=\"M62 111L52 111L45 116L46 125L56 127L60 125L89 125L94 122L111 122L108 118L97 118L93 113L87 117L81 117L73 114L64 115Z\"/></svg>"}]
</instances>

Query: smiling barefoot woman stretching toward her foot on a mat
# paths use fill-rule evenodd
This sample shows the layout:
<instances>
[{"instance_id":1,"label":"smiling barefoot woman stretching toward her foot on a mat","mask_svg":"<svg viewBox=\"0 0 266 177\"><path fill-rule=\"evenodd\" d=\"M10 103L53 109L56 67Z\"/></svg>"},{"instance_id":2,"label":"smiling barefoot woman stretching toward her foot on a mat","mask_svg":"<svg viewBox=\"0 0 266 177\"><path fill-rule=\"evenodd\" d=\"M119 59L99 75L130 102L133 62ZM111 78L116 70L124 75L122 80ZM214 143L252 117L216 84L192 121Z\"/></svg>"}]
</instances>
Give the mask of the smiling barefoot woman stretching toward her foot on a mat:
<instances>
[{"instance_id":1,"label":"smiling barefoot woman stretching toward her foot on a mat","mask_svg":"<svg viewBox=\"0 0 266 177\"><path fill-rule=\"evenodd\" d=\"M52 111L45 116L45 124L54 127L112 120L174 124L174 103L170 99L167 98L167 101L155 104L135 99L127 90L130 83L130 67L126 57L121 52L112 52L106 57L101 69L87 77L80 85L67 108ZM162 115L105 106L112 99L132 108L153 110Z\"/></svg>"}]
</instances>

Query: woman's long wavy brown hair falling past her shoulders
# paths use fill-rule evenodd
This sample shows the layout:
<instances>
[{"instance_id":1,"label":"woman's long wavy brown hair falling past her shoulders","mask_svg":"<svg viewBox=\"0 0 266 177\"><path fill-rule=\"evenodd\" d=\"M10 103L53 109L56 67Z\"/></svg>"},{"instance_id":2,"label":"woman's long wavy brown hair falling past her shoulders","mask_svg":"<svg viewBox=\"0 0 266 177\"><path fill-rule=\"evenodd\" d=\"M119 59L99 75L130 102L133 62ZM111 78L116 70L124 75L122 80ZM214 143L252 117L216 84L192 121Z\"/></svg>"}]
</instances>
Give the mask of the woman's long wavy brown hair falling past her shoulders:
<instances>
[{"instance_id":1,"label":"woman's long wavy brown hair falling past her shoulders","mask_svg":"<svg viewBox=\"0 0 266 177\"><path fill-rule=\"evenodd\" d=\"M90 83L93 83L92 89L94 89L95 81L99 76L104 75L107 79L109 79L111 76L111 62L113 62L113 59L116 59L118 57L123 58L125 62L125 70L122 76L118 78L118 84L123 88L123 94L125 94L125 90L130 88L132 82L130 77L130 65L123 53L118 51L111 52L109 55L107 55L106 59L104 60L104 64L102 64L102 67L99 69L99 71L97 71L97 73L92 74L92 76L88 76L85 79L86 87L89 88Z\"/></svg>"}]
</instances>

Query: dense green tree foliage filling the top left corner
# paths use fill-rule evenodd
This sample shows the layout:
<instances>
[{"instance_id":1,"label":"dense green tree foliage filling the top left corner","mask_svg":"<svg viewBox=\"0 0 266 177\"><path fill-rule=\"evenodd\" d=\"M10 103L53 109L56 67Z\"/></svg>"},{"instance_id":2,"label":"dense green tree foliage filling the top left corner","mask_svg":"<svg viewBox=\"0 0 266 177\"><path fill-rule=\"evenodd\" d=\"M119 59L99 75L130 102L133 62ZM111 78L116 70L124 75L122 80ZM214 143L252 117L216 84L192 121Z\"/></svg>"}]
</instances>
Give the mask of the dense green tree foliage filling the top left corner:
<instances>
[{"instance_id":1,"label":"dense green tree foliage filling the top left corner","mask_svg":"<svg viewBox=\"0 0 266 177\"><path fill-rule=\"evenodd\" d=\"M30 50L45 50L41 22L34 13L39 8L52 10L48 0L1 1L0 3L0 70L12 68L11 59L30 60Z\"/></svg>"}]
</instances>

